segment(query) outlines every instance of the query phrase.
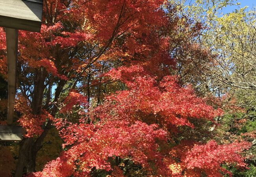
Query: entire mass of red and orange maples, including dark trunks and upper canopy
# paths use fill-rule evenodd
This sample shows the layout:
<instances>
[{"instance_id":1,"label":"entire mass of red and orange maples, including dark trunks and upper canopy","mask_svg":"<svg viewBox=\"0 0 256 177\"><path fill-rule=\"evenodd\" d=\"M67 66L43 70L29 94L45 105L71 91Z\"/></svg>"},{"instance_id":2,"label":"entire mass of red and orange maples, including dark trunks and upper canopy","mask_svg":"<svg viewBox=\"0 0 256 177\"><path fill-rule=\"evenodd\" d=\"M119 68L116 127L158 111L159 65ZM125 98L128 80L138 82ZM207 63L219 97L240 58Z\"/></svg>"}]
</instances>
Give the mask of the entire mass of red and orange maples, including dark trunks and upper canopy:
<instances>
[{"instance_id":1,"label":"entire mass of red and orange maples, including dark trunks and upper canopy","mask_svg":"<svg viewBox=\"0 0 256 177\"><path fill-rule=\"evenodd\" d=\"M219 177L231 176L224 164L246 168L241 153L251 143L213 140L209 125L224 111L174 74L177 63L189 65L172 54L174 42L187 55L207 52L177 37L179 17L167 15L163 7L175 7L166 3L44 0L41 33L19 31L15 111L25 130L20 149L28 152L20 151L15 175ZM4 41L1 28L3 53ZM0 73L6 77L5 54ZM36 172L36 154L52 127L63 151Z\"/></svg>"}]
</instances>

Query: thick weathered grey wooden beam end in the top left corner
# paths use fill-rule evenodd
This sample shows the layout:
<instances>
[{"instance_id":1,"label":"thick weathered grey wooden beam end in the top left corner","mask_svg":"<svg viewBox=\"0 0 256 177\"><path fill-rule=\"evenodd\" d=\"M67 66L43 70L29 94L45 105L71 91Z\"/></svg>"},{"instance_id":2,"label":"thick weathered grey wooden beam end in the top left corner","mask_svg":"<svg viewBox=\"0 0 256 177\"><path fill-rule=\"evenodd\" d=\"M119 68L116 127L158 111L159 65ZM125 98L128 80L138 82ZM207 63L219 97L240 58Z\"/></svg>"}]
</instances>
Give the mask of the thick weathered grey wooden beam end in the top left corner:
<instances>
[{"instance_id":1,"label":"thick weathered grey wooden beam end in the top left corner","mask_svg":"<svg viewBox=\"0 0 256 177\"><path fill-rule=\"evenodd\" d=\"M40 32L42 0L0 0L0 26Z\"/></svg>"}]
</instances>

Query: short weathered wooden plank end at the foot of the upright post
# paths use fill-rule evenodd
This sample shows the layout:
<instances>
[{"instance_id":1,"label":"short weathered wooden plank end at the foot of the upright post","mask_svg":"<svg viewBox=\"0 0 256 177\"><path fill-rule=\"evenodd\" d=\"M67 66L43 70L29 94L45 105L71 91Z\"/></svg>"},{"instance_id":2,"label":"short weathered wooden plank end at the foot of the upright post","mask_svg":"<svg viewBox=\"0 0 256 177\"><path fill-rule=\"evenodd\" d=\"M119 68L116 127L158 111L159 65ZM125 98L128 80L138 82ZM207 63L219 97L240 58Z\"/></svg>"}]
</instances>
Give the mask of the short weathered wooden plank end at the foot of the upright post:
<instances>
[{"instance_id":1,"label":"short weathered wooden plank end at the foot of the upright post","mask_svg":"<svg viewBox=\"0 0 256 177\"><path fill-rule=\"evenodd\" d=\"M0 125L0 141L21 141L22 133L21 126Z\"/></svg>"}]
</instances>

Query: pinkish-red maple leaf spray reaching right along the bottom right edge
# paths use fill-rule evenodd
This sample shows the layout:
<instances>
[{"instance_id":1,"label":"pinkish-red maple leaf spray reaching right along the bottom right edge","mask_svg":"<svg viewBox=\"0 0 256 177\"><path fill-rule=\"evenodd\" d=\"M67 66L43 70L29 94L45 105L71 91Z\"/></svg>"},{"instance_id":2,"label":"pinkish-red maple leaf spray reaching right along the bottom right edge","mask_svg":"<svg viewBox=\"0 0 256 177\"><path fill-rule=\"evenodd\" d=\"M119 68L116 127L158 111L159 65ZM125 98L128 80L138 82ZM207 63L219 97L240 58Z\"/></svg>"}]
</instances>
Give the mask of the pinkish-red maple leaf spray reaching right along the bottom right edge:
<instances>
[{"instance_id":1,"label":"pinkish-red maple leaf spray reaching right along the bottom right edge","mask_svg":"<svg viewBox=\"0 0 256 177\"><path fill-rule=\"evenodd\" d=\"M171 158L165 159L165 163L171 170L170 175L177 177L184 176L182 171L187 177L199 177L202 173L209 177L222 177L222 173L228 173L231 176L230 171L220 165L227 164L245 168L244 157L239 153L250 146L249 142L218 145L214 140L207 144L182 141L170 151Z\"/></svg>"}]
</instances>

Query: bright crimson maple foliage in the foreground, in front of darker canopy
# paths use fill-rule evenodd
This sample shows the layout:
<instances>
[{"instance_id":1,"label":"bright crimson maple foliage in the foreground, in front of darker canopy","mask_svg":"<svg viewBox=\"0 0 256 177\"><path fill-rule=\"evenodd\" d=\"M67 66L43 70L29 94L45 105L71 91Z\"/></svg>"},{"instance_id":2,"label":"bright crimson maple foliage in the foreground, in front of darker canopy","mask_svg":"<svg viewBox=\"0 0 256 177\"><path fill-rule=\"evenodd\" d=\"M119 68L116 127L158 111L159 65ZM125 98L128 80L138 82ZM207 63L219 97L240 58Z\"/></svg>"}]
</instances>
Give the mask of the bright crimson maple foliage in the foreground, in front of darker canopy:
<instances>
[{"instance_id":1,"label":"bright crimson maple foliage in the foreground, in front of darker canopy","mask_svg":"<svg viewBox=\"0 0 256 177\"><path fill-rule=\"evenodd\" d=\"M245 167L243 157L237 153L250 147L247 142L218 145L210 141L203 145L182 140L174 147L164 145L179 132L179 126L194 127L189 119L213 121L222 113L196 97L190 87L180 87L177 81L166 76L157 84L149 76L137 76L133 82L127 81L128 90L108 96L79 124L58 120L55 125L65 141L63 146L72 147L35 175L88 176L93 168L113 170L109 162L113 157L129 158L147 174L163 176L222 176L220 171L228 171L220 164Z\"/></svg>"}]
</instances>

